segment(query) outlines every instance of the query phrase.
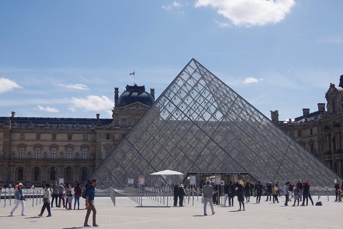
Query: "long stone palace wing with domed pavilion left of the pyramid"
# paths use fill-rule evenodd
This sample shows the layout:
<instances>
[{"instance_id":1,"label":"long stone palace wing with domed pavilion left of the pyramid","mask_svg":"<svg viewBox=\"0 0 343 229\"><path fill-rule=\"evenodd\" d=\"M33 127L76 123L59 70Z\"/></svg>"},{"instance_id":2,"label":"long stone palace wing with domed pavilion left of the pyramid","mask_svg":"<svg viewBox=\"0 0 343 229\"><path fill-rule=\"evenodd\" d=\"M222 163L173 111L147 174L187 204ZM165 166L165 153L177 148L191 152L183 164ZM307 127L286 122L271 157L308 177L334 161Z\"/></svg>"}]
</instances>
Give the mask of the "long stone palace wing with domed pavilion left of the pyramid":
<instances>
[{"instance_id":1,"label":"long stone palace wing with domed pavilion left of the pyramid","mask_svg":"<svg viewBox=\"0 0 343 229\"><path fill-rule=\"evenodd\" d=\"M112 119L0 117L0 185L84 182L154 103L154 89L115 87Z\"/></svg>"}]
</instances>

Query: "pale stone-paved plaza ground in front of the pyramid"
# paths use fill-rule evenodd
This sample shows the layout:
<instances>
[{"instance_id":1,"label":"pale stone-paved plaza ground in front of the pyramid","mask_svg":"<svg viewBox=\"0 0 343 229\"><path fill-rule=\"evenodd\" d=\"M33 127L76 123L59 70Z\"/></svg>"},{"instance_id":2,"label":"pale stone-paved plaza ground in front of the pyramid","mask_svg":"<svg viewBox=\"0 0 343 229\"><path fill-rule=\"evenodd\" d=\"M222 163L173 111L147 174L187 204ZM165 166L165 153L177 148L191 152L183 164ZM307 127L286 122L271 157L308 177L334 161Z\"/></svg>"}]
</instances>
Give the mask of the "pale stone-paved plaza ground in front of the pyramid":
<instances>
[{"instance_id":1,"label":"pale stone-paved plaza ground in front of the pyramid","mask_svg":"<svg viewBox=\"0 0 343 229\"><path fill-rule=\"evenodd\" d=\"M322 206L284 206L285 198L280 197L279 203L273 204L261 198L260 204L255 203L255 198L250 198L246 203L245 212L237 212L238 202L235 198L234 207L214 205L214 215L210 215L210 206L207 206L208 216L203 214L203 204L200 197L186 201L185 207L171 207L152 199L143 198L142 205L128 197L116 197L116 206L110 197L95 197L97 210L96 219L98 228L340 228L340 216L343 202L335 202L334 196L321 196ZM21 207L14 212L14 217L9 213L13 208L4 207L4 200L0 202L0 228L82 228L86 215L85 200L80 199L80 210L67 211L64 208L51 208L52 217L45 211L43 217L37 214L41 206L32 207L32 200L26 201L25 214L20 216ZM318 201L313 196L313 201ZM169 205L172 199L169 199ZM301 204L301 203L300 203ZM90 224L91 224L90 217Z\"/></svg>"}]
</instances>

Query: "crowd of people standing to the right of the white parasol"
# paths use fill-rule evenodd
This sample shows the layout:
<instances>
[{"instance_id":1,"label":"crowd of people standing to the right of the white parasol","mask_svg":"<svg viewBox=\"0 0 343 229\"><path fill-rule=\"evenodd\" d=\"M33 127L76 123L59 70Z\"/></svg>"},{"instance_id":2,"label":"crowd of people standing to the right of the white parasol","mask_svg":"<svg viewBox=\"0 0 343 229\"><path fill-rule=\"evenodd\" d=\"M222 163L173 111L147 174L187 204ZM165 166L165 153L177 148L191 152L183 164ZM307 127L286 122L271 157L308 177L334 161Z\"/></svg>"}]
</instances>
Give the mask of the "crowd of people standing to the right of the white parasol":
<instances>
[{"instance_id":1,"label":"crowd of people standing to the right of the white parasol","mask_svg":"<svg viewBox=\"0 0 343 229\"><path fill-rule=\"evenodd\" d=\"M222 193L224 192L224 203L221 205L223 206L234 206L234 199L237 197L237 201L239 204L238 212L245 211L245 203L250 203L250 197L255 197L256 204L259 204L261 201L261 197L266 198L265 201L273 201L273 203L279 203L279 197L285 195L285 206L292 204L292 206L306 206L308 205L309 200L311 204L314 205L312 196L311 196L311 186L309 181L301 182L298 180L296 183L291 184L291 182L286 182L284 186L277 181L276 183L272 184L271 182L267 182L265 185L262 184L260 181L256 182L246 182L244 183L242 180L238 180L237 182L229 181L225 183L224 187L220 184L215 184L210 180L205 182L201 182L199 185L201 187L202 192L202 200L204 201L204 215L207 215L206 212L206 205L207 203L210 204L212 214L214 214L213 204L220 204L220 199L223 196ZM343 182L342 186L339 186L337 183L335 185L336 191L336 200L341 201L341 190L343 190ZM175 184L174 186L174 206L177 206L177 199L179 199L179 206L183 206L183 198L186 195L184 186L181 184ZM293 202L294 201L294 202Z\"/></svg>"}]
</instances>

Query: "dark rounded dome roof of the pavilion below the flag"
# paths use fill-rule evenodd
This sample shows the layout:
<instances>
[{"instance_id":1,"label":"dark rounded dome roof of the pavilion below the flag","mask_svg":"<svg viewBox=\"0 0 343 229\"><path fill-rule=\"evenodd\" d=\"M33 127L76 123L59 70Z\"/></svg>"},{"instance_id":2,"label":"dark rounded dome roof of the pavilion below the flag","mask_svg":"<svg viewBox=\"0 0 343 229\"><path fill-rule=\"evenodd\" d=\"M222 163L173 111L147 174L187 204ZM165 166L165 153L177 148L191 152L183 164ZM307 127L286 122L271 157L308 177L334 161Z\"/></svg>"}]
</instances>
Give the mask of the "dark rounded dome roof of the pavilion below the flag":
<instances>
[{"instance_id":1,"label":"dark rounded dome roof of the pavilion below the flag","mask_svg":"<svg viewBox=\"0 0 343 229\"><path fill-rule=\"evenodd\" d=\"M145 86L126 85L126 90L119 96L117 106L122 107L135 102L151 106L154 101L151 94L145 91Z\"/></svg>"}]
</instances>

